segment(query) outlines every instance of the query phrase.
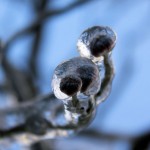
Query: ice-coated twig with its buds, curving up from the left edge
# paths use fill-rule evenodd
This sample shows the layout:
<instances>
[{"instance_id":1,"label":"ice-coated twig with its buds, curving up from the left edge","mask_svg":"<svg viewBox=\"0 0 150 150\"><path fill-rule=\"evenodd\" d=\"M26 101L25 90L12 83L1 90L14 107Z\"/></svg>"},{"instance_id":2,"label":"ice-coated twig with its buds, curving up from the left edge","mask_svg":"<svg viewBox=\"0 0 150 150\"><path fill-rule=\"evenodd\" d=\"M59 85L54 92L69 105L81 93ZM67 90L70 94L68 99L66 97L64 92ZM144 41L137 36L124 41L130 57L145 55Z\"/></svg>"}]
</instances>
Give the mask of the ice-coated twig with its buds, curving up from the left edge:
<instances>
[{"instance_id":1,"label":"ice-coated twig with its buds, curving up from the left edge","mask_svg":"<svg viewBox=\"0 0 150 150\"><path fill-rule=\"evenodd\" d=\"M90 124L95 117L96 103L107 98L110 92L114 70L109 53L115 45L116 36L108 27L92 27L86 32L78 45L82 57L65 61L54 71L52 89L61 100L52 93L1 111L1 138L11 137L18 141L25 138L26 143L31 144L45 138L68 136ZM87 53L89 55L83 56ZM105 67L102 85L98 69L101 61L104 61ZM8 68L6 72L10 70ZM11 80L14 81L15 77Z\"/></svg>"}]
</instances>

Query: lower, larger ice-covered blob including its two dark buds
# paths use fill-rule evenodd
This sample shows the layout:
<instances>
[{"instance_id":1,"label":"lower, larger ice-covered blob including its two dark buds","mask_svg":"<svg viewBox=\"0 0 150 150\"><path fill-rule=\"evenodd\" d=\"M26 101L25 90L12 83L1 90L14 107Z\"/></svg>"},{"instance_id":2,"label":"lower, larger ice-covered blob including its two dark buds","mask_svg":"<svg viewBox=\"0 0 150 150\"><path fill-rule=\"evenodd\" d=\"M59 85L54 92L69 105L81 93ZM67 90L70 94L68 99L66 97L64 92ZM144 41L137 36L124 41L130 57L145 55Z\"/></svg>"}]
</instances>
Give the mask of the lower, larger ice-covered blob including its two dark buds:
<instances>
[{"instance_id":1,"label":"lower, larger ice-covered blob including its two dark buds","mask_svg":"<svg viewBox=\"0 0 150 150\"><path fill-rule=\"evenodd\" d=\"M80 93L94 95L100 89L98 68L85 57L65 61L54 71L52 89L58 99L68 99Z\"/></svg>"}]
</instances>

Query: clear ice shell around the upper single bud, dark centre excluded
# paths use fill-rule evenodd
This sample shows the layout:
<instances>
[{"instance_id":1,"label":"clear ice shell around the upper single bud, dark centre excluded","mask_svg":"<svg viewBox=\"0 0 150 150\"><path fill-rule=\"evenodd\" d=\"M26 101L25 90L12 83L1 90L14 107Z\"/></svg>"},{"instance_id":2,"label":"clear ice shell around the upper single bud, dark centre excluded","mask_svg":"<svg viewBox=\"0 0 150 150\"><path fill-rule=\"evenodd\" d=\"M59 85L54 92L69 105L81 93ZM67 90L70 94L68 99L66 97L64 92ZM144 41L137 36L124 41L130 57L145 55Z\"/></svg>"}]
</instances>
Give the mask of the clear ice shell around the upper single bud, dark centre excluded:
<instances>
[{"instance_id":1,"label":"clear ice shell around the upper single bud, dark centre excluded","mask_svg":"<svg viewBox=\"0 0 150 150\"><path fill-rule=\"evenodd\" d=\"M103 60L103 56L95 57L92 55L90 50L90 43L96 37L105 36L111 38L113 45L111 49L116 44L116 33L110 27L95 26L85 30L79 37L77 41L77 49L81 57L86 57L91 59L93 62L97 63Z\"/></svg>"}]
</instances>

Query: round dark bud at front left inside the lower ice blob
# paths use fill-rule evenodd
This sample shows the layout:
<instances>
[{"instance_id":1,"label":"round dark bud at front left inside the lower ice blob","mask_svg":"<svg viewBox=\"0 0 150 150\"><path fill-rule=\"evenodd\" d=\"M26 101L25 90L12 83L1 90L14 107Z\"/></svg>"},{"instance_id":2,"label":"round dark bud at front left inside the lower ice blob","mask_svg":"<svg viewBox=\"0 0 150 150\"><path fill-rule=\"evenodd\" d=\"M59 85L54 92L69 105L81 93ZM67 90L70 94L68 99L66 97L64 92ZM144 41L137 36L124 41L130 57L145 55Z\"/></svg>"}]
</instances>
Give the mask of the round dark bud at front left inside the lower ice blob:
<instances>
[{"instance_id":1,"label":"round dark bud at front left inside the lower ice blob","mask_svg":"<svg viewBox=\"0 0 150 150\"><path fill-rule=\"evenodd\" d=\"M73 96L80 91L81 85L82 81L79 77L68 75L61 80L60 90L68 96Z\"/></svg>"}]
</instances>

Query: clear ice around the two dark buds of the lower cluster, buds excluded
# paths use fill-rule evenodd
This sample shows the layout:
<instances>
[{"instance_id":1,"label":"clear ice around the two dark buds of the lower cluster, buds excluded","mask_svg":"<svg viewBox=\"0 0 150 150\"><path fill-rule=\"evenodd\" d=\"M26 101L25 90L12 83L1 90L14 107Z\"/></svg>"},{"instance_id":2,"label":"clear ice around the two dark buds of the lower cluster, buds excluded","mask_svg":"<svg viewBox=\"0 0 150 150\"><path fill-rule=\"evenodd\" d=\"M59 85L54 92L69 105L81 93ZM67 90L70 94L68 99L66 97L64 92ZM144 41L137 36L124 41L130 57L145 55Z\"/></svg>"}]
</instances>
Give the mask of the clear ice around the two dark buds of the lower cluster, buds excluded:
<instances>
[{"instance_id":1,"label":"clear ice around the two dark buds of the lower cluster, buds excluded","mask_svg":"<svg viewBox=\"0 0 150 150\"><path fill-rule=\"evenodd\" d=\"M66 77L67 75L73 75L73 76L82 76L78 74L77 69L81 67L93 67L96 70L96 76L94 76L94 80L90 84L90 86L84 91L83 93L85 95L94 95L96 94L100 89L100 74L98 71L98 67L90 60L84 57L76 57L73 59L70 59L68 61L65 61L58 65L54 71L53 79L52 79L52 89L55 94L55 96L58 99L69 99L70 97L60 90L60 82L61 79ZM78 92L78 94L80 91Z\"/></svg>"}]
</instances>

